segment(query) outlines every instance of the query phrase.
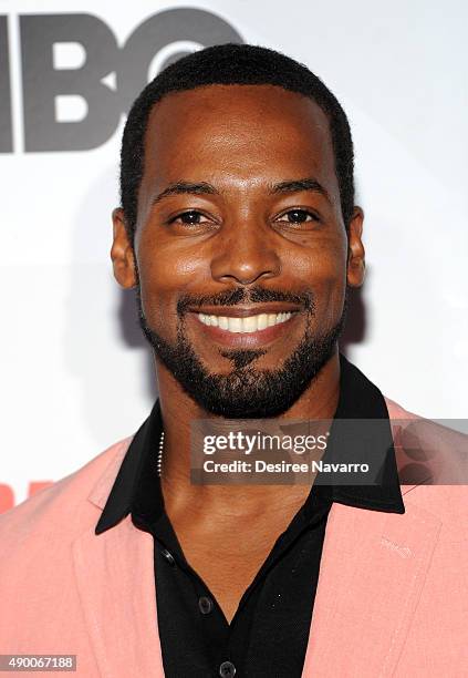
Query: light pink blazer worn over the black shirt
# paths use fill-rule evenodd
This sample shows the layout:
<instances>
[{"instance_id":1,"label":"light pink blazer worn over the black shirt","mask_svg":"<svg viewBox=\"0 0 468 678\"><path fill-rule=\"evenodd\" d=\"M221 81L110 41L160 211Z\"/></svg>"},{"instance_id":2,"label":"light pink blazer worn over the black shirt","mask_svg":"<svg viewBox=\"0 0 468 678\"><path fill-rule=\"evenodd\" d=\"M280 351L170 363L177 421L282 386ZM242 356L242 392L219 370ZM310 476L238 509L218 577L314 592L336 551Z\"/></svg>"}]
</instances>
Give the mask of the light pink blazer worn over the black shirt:
<instances>
[{"instance_id":1,"label":"light pink blazer worn over the black shirt","mask_svg":"<svg viewBox=\"0 0 468 678\"><path fill-rule=\"evenodd\" d=\"M129 516L94 534L129 442L0 515L0 654L77 655L85 678L164 676L153 537ZM333 504L303 678L468 676L467 487L402 493L404 515Z\"/></svg>"}]
</instances>

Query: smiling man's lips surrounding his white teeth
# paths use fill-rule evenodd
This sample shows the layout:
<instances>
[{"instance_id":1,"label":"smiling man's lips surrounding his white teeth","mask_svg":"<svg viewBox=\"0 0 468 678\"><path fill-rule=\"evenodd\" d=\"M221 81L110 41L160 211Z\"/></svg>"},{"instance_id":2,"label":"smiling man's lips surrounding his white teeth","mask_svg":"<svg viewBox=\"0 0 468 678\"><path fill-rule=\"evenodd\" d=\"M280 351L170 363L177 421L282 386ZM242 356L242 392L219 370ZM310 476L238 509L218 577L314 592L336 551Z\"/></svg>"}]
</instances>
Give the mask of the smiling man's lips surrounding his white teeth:
<instances>
[{"instance_id":1,"label":"smiling man's lips surrounding his white teeth","mask_svg":"<svg viewBox=\"0 0 468 678\"><path fill-rule=\"evenodd\" d=\"M215 307L209 307L206 306L204 307L204 310L197 310L196 312L190 314L190 316L194 318L195 322L197 323L197 328L204 333L204 336L206 337L207 341L210 342L215 342L221 346L226 346L229 348L237 348L237 349L254 349L254 348L262 348L268 343L271 343L272 341L275 341L277 339L279 339L282 336L285 336L287 333L289 333L291 331L291 323L297 322L297 319L300 317L299 312L293 312L291 318L289 318L288 320L284 320L283 322L279 322L278 325L273 325L272 327L267 327L262 330L257 330L254 332L230 332L228 330L223 330L220 327L214 327L214 326L209 326L209 325L205 325L204 322L201 322L201 320L199 320L198 318L198 314L199 312L206 312L208 314L208 310L205 309L209 309L209 308L215 308ZM217 314L212 314L216 316L220 316L220 315L225 315L225 311L222 311L222 314L219 312L220 307L216 307L218 312ZM231 308L230 310L236 310L236 315L235 314L230 314L229 317L231 318L246 318L249 316L257 316L258 314L261 312L283 312L283 311L290 311L291 310L291 305L285 308L285 305L282 305L281 308L279 305L274 306L274 309L279 309L279 310L273 310L273 306L268 306L268 310L260 310L261 309L267 309L266 305L257 305L254 307L256 312L252 312L252 307L250 307L248 309L248 311L246 312L246 308L241 309L241 308ZM297 310L297 307L295 309ZM242 315L240 315L239 311L242 311ZM211 315L211 314L209 314ZM226 314L227 316L228 314Z\"/></svg>"}]
</instances>

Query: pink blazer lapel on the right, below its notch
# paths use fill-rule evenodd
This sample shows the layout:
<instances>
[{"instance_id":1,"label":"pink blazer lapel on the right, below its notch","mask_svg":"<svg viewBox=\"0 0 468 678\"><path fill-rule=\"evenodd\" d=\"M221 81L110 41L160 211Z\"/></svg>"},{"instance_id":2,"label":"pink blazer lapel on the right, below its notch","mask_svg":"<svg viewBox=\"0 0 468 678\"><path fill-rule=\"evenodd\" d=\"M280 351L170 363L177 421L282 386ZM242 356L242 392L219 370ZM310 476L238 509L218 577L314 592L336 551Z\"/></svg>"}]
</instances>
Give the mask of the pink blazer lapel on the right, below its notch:
<instances>
[{"instance_id":1,"label":"pink blazer lapel on the right, below its notch","mask_svg":"<svg viewBox=\"0 0 468 678\"><path fill-rule=\"evenodd\" d=\"M405 514L333 504L303 678L393 675L440 525L410 502Z\"/></svg>"}]
</instances>

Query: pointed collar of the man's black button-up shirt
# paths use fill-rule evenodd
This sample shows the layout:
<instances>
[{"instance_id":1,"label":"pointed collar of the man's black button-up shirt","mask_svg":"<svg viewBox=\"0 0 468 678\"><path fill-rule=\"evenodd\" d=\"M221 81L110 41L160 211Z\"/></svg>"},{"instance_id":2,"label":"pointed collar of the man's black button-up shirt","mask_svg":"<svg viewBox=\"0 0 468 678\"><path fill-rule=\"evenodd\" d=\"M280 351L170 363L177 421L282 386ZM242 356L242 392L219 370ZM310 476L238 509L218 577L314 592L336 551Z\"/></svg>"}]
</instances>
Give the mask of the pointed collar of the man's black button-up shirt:
<instances>
[{"instance_id":1,"label":"pointed collar of the man's black button-up shirt","mask_svg":"<svg viewBox=\"0 0 468 678\"><path fill-rule=\"evenodd\" d=\"M392 440L388 410L381 391L344 356L340 356L340 398L335 419L381 419L385 444L377 442L383 458L383 483L381 485L320 485L314 483L304 508L312 514L316 501L323 499L355 506L389 513L405 513L398 481L395 451ZM156 400L148 419L135 433L122 462L114 485L97 522L95 533L101 534L114 527L128 513L156 517L164 510L160 481L156 461L163 419L159 400Z\"/></svg>"}]
</instances>

